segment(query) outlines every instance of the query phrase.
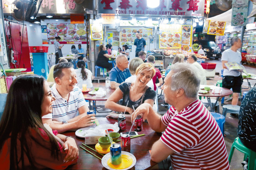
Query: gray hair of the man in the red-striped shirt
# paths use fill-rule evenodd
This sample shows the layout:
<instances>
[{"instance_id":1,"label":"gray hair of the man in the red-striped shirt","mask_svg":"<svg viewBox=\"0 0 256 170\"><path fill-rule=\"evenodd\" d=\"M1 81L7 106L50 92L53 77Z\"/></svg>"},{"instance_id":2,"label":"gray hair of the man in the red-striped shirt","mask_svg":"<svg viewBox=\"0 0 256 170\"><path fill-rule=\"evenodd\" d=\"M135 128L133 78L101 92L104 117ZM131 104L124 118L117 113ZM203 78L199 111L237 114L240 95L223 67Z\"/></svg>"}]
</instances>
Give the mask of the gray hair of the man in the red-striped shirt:
<instances>
[{"instance_id":1,"label":"gray hair of the man in the red-striped shirt","mask_svg":"<svg viewBox=\"0 0 256 170\"><path fill-rule=\"evenodd\" d=\"M175 63L171 65L173 91L184 89L189 98L196 98L200 89L200 77L197 67L189 63Z\"/></svg>"}]
</instances>

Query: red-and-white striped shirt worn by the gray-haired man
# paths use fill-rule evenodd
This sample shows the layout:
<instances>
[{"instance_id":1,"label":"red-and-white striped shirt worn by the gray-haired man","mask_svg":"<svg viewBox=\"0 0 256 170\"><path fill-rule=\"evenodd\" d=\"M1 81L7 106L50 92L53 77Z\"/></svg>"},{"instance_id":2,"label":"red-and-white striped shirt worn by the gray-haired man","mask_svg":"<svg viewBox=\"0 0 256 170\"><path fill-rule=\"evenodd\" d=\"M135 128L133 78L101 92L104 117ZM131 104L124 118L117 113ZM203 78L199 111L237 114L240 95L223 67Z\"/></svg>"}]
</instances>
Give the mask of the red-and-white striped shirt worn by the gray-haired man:
<instances>
[{"instance_id":1,"label":"red-and-white striped shirt worn by the gray-haired man","mask_svg":"<svg viewBox=\"0 0 256 170\"><path fill-rule=\"evenodd\" d=\"M160 139L175 151L171 155L175 170L229 170L221 130L200 100L190 103L180 113L171 107L162 122L168 127Z\"/></svg>"}]
</instances>

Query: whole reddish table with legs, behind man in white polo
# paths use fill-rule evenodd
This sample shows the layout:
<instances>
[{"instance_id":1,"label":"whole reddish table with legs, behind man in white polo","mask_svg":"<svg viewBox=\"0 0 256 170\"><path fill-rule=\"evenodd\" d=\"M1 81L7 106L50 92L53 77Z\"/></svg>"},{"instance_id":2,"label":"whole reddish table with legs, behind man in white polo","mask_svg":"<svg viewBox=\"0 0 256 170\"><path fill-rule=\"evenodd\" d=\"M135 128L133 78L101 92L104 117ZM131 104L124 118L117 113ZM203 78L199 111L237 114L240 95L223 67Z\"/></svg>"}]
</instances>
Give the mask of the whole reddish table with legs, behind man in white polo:
<instances>
[{"instance_id":1,"label":"whole reddish table with legs, behind man in white polo","mask_svg":"<svg viewBox=\"0 0 256 170\"><path fill-rule=\"evenodd\" d=\"M105 96L103 97L96 97L96 95L91 95L89 94L88 92L84 92L84 99L85 100L89 100L89 109L90 110L94 110L95 112L98 112L98 113L108 113L108 112L101 112L99 110L97 110L97 107L96 107L96 101L106 101L108 99L108 97L110 97L110 95L115 91L115 89L111 89L109 88L109 90L107 91L106 90L106 86L105 86L105 83L93 83L93 88L91 88L91 91L94 90L95 87L101 87L103 88L105 91L106 91L106 94ZM93 106L91 106L91 102L93 103ZM109 111L111 112L111 111Z\"/></svg>"}]
</instances>

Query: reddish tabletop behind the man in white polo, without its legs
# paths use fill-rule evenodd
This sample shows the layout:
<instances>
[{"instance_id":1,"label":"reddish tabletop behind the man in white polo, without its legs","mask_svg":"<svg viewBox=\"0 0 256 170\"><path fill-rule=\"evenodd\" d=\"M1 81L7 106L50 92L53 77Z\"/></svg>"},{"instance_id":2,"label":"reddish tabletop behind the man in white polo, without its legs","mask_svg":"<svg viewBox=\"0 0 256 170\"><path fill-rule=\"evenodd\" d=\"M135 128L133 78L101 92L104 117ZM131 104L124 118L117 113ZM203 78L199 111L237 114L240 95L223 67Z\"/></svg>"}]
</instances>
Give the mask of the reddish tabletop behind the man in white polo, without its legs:
<instances>
[{"instance_id":1,"label":"reddish tabletop behind the man in white polo, without its legs","mask_svg":"<svg viewBox=\"0 0 256 170\"><path fill-rule=\"evenodd\" d=\"M91 91L93 91L95 87L101 87L104 90L106 90L105 83L93 83L93 88L90 88ZM115 91L115 89L111 89L111 88L109 88L109 89L110 89L110 91L106 91L107 95L105 95L103 97L96 97L96 95L91 95L88 92L83 93L84 99L85 100L94 100L94 101L106 101L108 99L108 97L110 97L110 95Z\"/></svg>"}]
</instances>

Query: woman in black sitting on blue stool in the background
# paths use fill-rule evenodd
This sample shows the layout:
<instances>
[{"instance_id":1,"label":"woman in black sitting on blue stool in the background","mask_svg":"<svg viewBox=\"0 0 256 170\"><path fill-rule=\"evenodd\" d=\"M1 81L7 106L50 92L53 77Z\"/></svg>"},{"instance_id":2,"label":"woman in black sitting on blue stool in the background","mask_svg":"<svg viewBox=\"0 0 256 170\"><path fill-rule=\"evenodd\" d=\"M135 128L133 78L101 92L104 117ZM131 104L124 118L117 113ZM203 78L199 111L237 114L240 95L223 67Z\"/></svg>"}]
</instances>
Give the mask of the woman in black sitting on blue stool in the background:
<instances>
[{"instance_id":1,"label":"woman in black sitting on blue stool in the background","mask_svg":"<svg viewBox=\"0 0 256 170\"><path fill-rule=\"evenodd\" d=\"M112 63L108 63L108 58L113 57L113 55L108 55L108 52L106 52L106 46L101 45L99 46L99 54L98 54L98 59L96 61L96 65L105 69L110 70L113 68Z\"/></svg>"}]
</instances>

